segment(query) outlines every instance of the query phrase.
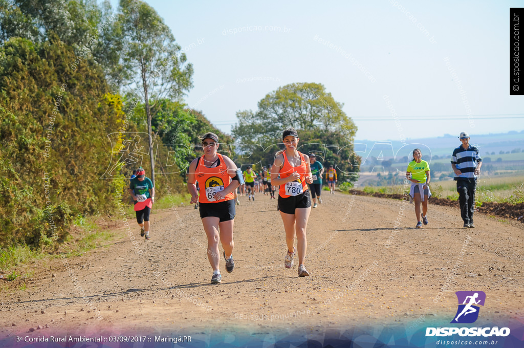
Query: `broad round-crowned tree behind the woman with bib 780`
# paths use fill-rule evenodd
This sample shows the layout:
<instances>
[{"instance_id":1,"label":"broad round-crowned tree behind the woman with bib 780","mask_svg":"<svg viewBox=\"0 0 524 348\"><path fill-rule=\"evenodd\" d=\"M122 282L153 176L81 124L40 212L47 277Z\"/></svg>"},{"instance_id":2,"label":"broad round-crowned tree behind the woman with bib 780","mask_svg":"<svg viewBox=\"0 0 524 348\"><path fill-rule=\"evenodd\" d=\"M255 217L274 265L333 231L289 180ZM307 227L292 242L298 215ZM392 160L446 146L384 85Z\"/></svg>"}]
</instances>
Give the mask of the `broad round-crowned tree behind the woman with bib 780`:
<instances>
[{"instance_id":1,"label":"broad round-crowned tree behind the woman with bib 780","mask_svg":"<svg viewBox=\"0 0 524 348\"><path fill-rule=\"evenodd\" d=\"M350 175L358 172L361 158L353 154L357 127L342 107L320 83L288 84L260 100L256 112L238 111L233 136L236 143L259 145L239 149L252 153L246 164L261 161L265 166L272 163L276 150L283 148L271 147L282 143L283 129L293 127L299 132L301 152L320 151L324 165L336 164L339 171ZM354 176L347 178L356 180Z\"/></svg>"}]
</instances>

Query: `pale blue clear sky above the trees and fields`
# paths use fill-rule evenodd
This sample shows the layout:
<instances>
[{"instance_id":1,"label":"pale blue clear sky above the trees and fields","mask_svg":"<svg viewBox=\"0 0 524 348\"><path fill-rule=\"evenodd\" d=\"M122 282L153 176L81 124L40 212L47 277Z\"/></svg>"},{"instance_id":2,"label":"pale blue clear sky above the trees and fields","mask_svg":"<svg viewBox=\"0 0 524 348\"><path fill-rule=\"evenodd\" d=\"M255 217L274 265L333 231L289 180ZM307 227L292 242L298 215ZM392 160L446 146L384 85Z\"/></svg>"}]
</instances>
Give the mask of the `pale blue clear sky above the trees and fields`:
<instances>
[{"instance_id":1,"label":"pale blue clear sky above the trees and fields","mask_svg":"<svg viewBox=\"0 0 524 348\"><path fill-rule=\"evenodd\" d=\"M194 65L187 104L227 133L294 82L322 83L357 139L524 129L524 97L509 95L509 8L522 2L147 3Z\"/></svg>"}]
</instances>

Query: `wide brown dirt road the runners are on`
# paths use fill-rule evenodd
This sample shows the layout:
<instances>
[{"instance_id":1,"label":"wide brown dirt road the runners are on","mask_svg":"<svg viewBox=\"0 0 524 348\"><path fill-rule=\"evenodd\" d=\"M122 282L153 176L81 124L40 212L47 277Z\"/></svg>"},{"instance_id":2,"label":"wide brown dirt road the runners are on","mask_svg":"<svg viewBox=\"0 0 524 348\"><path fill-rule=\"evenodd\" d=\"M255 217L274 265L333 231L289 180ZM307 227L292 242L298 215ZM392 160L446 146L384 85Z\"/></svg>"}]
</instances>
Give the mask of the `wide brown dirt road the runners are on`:
<instances>
[{"instance_id":1,"label":"wide brown dirt road the runners are on","mask_svg":"<svg viewBox=\"0 0 524 348\"><path fill-rule=\"evenodd\" d=\"M119 222L108 245L30 265L35 276L27 288L2 295L0 338L38 325L29 335L449 323L459 290L486 292L479 325L524 315L515 310L524 308L522 224L477 214L477 228L464 230L458 210L430 202L429 225L414 229L413 205L399 200L326 192L323 199L308 225L310 277L298 278L298 265L283 267L276 200L258 194L237 206L234 272L226 273L222 259L223 283L210 285L205 234L186 203L152 214L152 239L137 238L141 255ZM450 291L439 295L443 286Z\"/></svg>"}]
</instances>

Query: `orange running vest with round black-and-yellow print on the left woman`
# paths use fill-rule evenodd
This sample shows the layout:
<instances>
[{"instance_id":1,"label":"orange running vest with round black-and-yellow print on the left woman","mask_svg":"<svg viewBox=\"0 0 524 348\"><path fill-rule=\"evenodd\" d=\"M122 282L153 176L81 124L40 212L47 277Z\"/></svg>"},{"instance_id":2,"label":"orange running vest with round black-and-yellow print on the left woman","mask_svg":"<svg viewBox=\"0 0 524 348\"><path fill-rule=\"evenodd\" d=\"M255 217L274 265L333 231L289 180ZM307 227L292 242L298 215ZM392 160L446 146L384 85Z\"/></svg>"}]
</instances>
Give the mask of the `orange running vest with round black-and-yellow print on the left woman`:
<instances>
[{"instance_id":1,"label":"orange running vest with round black-and-yellow print on the left woman","mask_svg":"<svg viewBox=\"0 0 524 348\"><path fill-rule=\"evenodd\" d=\"M224 157L217 154L220 159L220 165L214 168L204 166L204 156L200 157L198 166L195 170L196 181L199 182L199 198L200 203L215 203L213 199L214 192L225 190L231 183L231 177L227 173L227 166ZM235 199L235 194L230 192L226 197L219 202L225 202Z\"/></svg>"}]
</instances>

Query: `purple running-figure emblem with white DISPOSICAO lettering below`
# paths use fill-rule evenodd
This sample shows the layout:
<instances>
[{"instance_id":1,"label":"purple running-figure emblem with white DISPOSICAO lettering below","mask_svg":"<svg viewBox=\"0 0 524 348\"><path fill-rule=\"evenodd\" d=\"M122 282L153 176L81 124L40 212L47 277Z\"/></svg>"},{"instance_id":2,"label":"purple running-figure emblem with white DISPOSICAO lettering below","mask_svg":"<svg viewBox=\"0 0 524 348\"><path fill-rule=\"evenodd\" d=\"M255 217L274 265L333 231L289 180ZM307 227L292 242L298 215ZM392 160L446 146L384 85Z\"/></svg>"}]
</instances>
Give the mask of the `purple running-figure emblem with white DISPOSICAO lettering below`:
<instances>
[{"instance_id":1,"label":"purple running-figure emblem with white DISPOSICAO lettering below","mask_svg":"<svg viewBox=\"0 0 524 348\"><path fill-rule=\"evenodd\" d=\"M470 324L478 319L479 306L484 306L486 293L484 291L457 291L455 292L459 300L459 308L453 317L451 324ZM507 336L509 328L426 328L426 336Z\"/></svg>"}]
</instances>

